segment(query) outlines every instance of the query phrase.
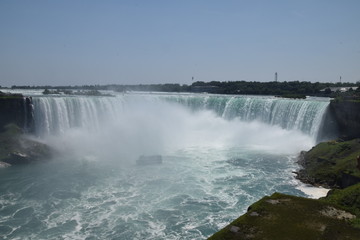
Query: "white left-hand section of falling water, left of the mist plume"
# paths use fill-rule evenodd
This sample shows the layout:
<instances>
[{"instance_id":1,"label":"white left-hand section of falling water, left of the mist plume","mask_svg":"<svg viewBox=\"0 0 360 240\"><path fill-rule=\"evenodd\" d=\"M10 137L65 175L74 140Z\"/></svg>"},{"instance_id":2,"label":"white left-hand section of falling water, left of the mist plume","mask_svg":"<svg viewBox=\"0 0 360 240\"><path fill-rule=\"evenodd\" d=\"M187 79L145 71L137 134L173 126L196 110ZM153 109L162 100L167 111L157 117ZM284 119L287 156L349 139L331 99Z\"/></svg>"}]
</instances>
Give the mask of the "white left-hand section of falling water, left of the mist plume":
<instances>
[{"instance_id":1,"label":"white left-hand section of falling water, left of the mist plume","mask_svg":"<svg viewBox=\"0 0 360 240\"><path fill-rule=\"evenodd\" d=\"M99 129L105 118L120 116L122 99L115 97L34 97L35 130L38 135L59 134L82 127Z\"/></svg>"}]
</instances>

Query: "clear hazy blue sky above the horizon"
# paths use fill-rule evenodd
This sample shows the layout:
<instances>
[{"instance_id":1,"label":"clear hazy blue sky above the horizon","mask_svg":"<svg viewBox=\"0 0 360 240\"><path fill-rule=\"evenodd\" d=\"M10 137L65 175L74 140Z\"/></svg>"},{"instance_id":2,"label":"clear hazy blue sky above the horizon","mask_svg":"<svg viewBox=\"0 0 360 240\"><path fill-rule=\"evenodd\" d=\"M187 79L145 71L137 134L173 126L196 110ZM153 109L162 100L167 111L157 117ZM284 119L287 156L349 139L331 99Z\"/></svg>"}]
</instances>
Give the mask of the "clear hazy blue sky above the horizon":
<instances>
[{"instance_id":1,"label":"clear hazy blue sky above the horizon","mask_svg":"<svg viewBox=\"0 0 360 240\"><path fill-rule=\"evenodd\" d=\"M360 0L0 0L0 85L360 81Z\"/></svg>"}]
</instances>

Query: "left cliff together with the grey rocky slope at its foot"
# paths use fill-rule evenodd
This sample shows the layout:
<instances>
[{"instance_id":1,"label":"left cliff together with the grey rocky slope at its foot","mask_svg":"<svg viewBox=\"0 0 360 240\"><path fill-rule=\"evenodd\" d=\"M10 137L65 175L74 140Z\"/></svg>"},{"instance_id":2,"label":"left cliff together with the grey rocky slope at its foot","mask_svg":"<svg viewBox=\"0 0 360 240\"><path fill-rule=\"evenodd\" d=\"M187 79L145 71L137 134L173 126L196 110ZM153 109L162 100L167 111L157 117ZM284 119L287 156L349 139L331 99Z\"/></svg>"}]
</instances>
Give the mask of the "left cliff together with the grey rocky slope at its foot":
<instances>
[{"instance_id":1,"label":"left cliff together with the grey rocky slope at its foot","mask_svg":"<svg viewBox=\"0 0 360 240\"><path fill-rule=\"evenodd\" d=\"M33 130L32 99L0 92L0 168L51 159L52 149L23 134Z\"/></svg>"}]
</instances>

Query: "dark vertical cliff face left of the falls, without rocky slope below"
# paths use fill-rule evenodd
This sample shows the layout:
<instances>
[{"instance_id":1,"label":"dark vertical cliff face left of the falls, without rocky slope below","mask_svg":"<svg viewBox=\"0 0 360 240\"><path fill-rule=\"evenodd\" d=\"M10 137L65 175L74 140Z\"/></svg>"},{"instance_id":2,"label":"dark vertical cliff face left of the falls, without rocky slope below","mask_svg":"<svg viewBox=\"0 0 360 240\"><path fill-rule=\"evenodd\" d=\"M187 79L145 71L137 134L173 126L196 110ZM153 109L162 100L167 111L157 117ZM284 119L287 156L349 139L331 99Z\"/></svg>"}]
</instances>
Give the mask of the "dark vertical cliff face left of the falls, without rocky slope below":
<instances>
[{"instance_id":1,"label":"dark vertical cliff face left of the falls, without rocky slope below","mask_svg":"<svg viewBox=\"0 0 360 240\"><path fill-rule=\"evenodd\" d=\"M0 132L10 123L26 132L33 131L33 105L30 97L0 92Z\"/></svg>"}]
</instances>

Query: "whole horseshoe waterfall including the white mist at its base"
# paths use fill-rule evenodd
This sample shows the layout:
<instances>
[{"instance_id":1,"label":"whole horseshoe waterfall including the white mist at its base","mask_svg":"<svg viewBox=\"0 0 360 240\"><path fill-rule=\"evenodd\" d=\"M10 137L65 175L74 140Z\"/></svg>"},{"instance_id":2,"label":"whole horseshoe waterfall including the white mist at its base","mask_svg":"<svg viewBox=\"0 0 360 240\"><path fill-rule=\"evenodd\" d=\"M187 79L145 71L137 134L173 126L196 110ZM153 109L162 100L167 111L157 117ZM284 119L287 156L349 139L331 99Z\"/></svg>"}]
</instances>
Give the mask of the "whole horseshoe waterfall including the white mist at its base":
<instances>
[{"instance_id":1,"label":"whole horseshoe waterfall including the white mist at its base","mask_svg":"<svg viewBox=\"0 0 360 240\"><path fill-rule=\"evenodd\" d=\"M192 147L312 147L324 100L204 94L33 97L36 134L80 155L134 159ZM63 150L69 152L69 149ZM105 153L108 155L103 156Z\"/></svg>"}]
</instances>

